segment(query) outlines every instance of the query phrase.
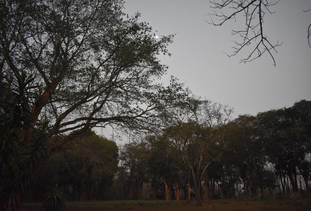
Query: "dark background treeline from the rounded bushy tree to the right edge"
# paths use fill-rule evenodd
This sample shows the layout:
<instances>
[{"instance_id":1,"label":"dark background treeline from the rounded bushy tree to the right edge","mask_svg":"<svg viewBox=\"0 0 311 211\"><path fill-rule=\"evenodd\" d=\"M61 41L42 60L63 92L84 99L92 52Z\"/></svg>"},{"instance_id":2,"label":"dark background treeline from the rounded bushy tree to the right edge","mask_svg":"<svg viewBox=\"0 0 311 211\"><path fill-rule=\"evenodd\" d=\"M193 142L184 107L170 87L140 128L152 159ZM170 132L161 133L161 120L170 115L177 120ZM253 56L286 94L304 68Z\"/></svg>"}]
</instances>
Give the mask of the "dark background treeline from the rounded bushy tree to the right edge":
<instances>
[{"instance_id":1,"label":"dark background treeline from the rounded bushy tree to the right edge","mask_svg":"<svg viewBox=\"0 0 311 211\"><path fill-rule=\"evenodd\" d=\"M179 199L180 189L188 198L190 187L196 190L197 201L201 195L257 196L264 188L271 194L274 189L285 193L299 188L310 193L310 115L311 102L302 100L290 108L242 115L213 128L184 122L163 130L160 138L125 145L118 178L127 172L137 187L143 182L152 190L163 186L166 199L169 190ZM125 195L126 190L123 186ZM139 199L140 190L136 191L134 198Z\"/></svg>"}]
</instances>

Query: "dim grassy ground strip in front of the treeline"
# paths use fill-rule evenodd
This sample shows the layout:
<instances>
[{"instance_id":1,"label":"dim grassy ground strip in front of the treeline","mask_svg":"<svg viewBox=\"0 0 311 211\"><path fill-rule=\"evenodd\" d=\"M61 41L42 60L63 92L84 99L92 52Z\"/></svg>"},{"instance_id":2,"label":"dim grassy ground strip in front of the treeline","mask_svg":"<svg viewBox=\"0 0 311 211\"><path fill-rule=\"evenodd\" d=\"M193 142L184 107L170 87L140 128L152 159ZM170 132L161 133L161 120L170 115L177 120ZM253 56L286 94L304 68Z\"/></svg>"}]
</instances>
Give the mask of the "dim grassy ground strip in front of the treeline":
<instances>
[{"instance_id":1,"label":"dim grassy ground strip in front of the treeline","mask_svg":"<svg viewBox=\"0 0 311 211\"><path fill-rule=\"evenodd\" d=\"M307 211L311 210L311 199L298 200L267 200L267 201L248 201L248 200L214 200L212 208L196 206L195 204L186 205L185 200L181 201L86 201L86 202L68 202L69 211L116 211L116 210L135 210L135 204L139 204L140 210L150 211ZM30 211L39 211L42 209L40 203L28 203L24 206Z\"/></svg>"}]
</instances>

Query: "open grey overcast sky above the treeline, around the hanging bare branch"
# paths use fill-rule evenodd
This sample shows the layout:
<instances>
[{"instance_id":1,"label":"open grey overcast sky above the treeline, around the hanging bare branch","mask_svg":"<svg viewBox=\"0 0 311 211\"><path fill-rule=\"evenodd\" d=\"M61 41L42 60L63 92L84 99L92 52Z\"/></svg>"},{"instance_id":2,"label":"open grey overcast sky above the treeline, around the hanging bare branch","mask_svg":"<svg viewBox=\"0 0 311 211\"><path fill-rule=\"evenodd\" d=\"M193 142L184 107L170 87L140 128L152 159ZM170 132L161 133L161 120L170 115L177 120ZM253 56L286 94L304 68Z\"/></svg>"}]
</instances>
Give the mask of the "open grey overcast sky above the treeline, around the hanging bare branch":
<instances>
[{"instance_id":1,"label":"open grey overcast sky above the treeline, around the hanging bare branch","mask_svg":"<svg viewBox=\"0 0 311 211\"><path fill-rule=\"evenodd\" d=\"M272 0L272 2L276 2ZM126 0L124 12L139 11L158 36L178 33L169 46L171 57L161 56L170 75L185 82L193 94L234 108L233 117L256 115L271 108L290 107L301 99L311 100L311 48L307 28L311 23L311 0L281 0L264 16L264 33L276 43L276 67L267 54L239 63L248 51L228 58L232 52L231 29L243 29L245 20L230 20L221 27L205 20L211 12L208 0Z\"/></svg>"}]
</instances>

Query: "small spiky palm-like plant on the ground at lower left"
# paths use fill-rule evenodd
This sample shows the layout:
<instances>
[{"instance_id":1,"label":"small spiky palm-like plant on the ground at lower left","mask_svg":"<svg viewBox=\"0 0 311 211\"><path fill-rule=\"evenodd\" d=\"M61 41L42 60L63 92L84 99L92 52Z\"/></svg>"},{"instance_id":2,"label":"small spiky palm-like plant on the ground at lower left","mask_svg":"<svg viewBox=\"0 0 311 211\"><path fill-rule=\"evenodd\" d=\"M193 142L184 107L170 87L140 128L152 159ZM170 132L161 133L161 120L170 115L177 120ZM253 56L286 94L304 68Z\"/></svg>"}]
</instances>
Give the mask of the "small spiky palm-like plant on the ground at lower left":
<instances>
[{"instance_id":1,"label":"small spiky palm-like plant on the ground at lower left","mask_svg":"<svg viewBox=\"0 0 311 211\"><path fill-rule=\"evenodd\" d=\"M54 187L49 187L49 192L46 194L44 200L44 211L65 211L67 210L67 204L65 202L65 196L63 195L63 187L59 187L57 184Z\"/></svg>"}]
</instances>

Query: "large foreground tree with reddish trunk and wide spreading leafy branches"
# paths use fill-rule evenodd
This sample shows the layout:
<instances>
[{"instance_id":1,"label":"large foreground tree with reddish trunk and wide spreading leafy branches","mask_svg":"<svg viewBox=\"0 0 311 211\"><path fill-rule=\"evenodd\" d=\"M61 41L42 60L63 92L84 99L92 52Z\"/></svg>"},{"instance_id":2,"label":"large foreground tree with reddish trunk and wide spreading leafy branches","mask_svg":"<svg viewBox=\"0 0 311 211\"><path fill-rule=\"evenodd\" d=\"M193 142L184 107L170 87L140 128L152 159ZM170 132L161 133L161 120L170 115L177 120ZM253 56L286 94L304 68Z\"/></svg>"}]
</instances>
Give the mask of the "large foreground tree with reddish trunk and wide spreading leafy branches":
<instances>
[{"instance_id":1,"label":"large foreground tree with reddish trunk and wide spreading leafy branches","mask_svg":"<svg viewBox=\"0 0 311 211\"><path fill-rule=\"evenodd\" d=\"M172 36L155 39L139 14L122 13L123 1L0 4L0 165L12 182L1 183L3 198L14 201L24 178L61 144L98 126L164 124L183 97L176 79L155 82L167 69L156 56L168 53Z\"/></svg>"}]
</instances>

